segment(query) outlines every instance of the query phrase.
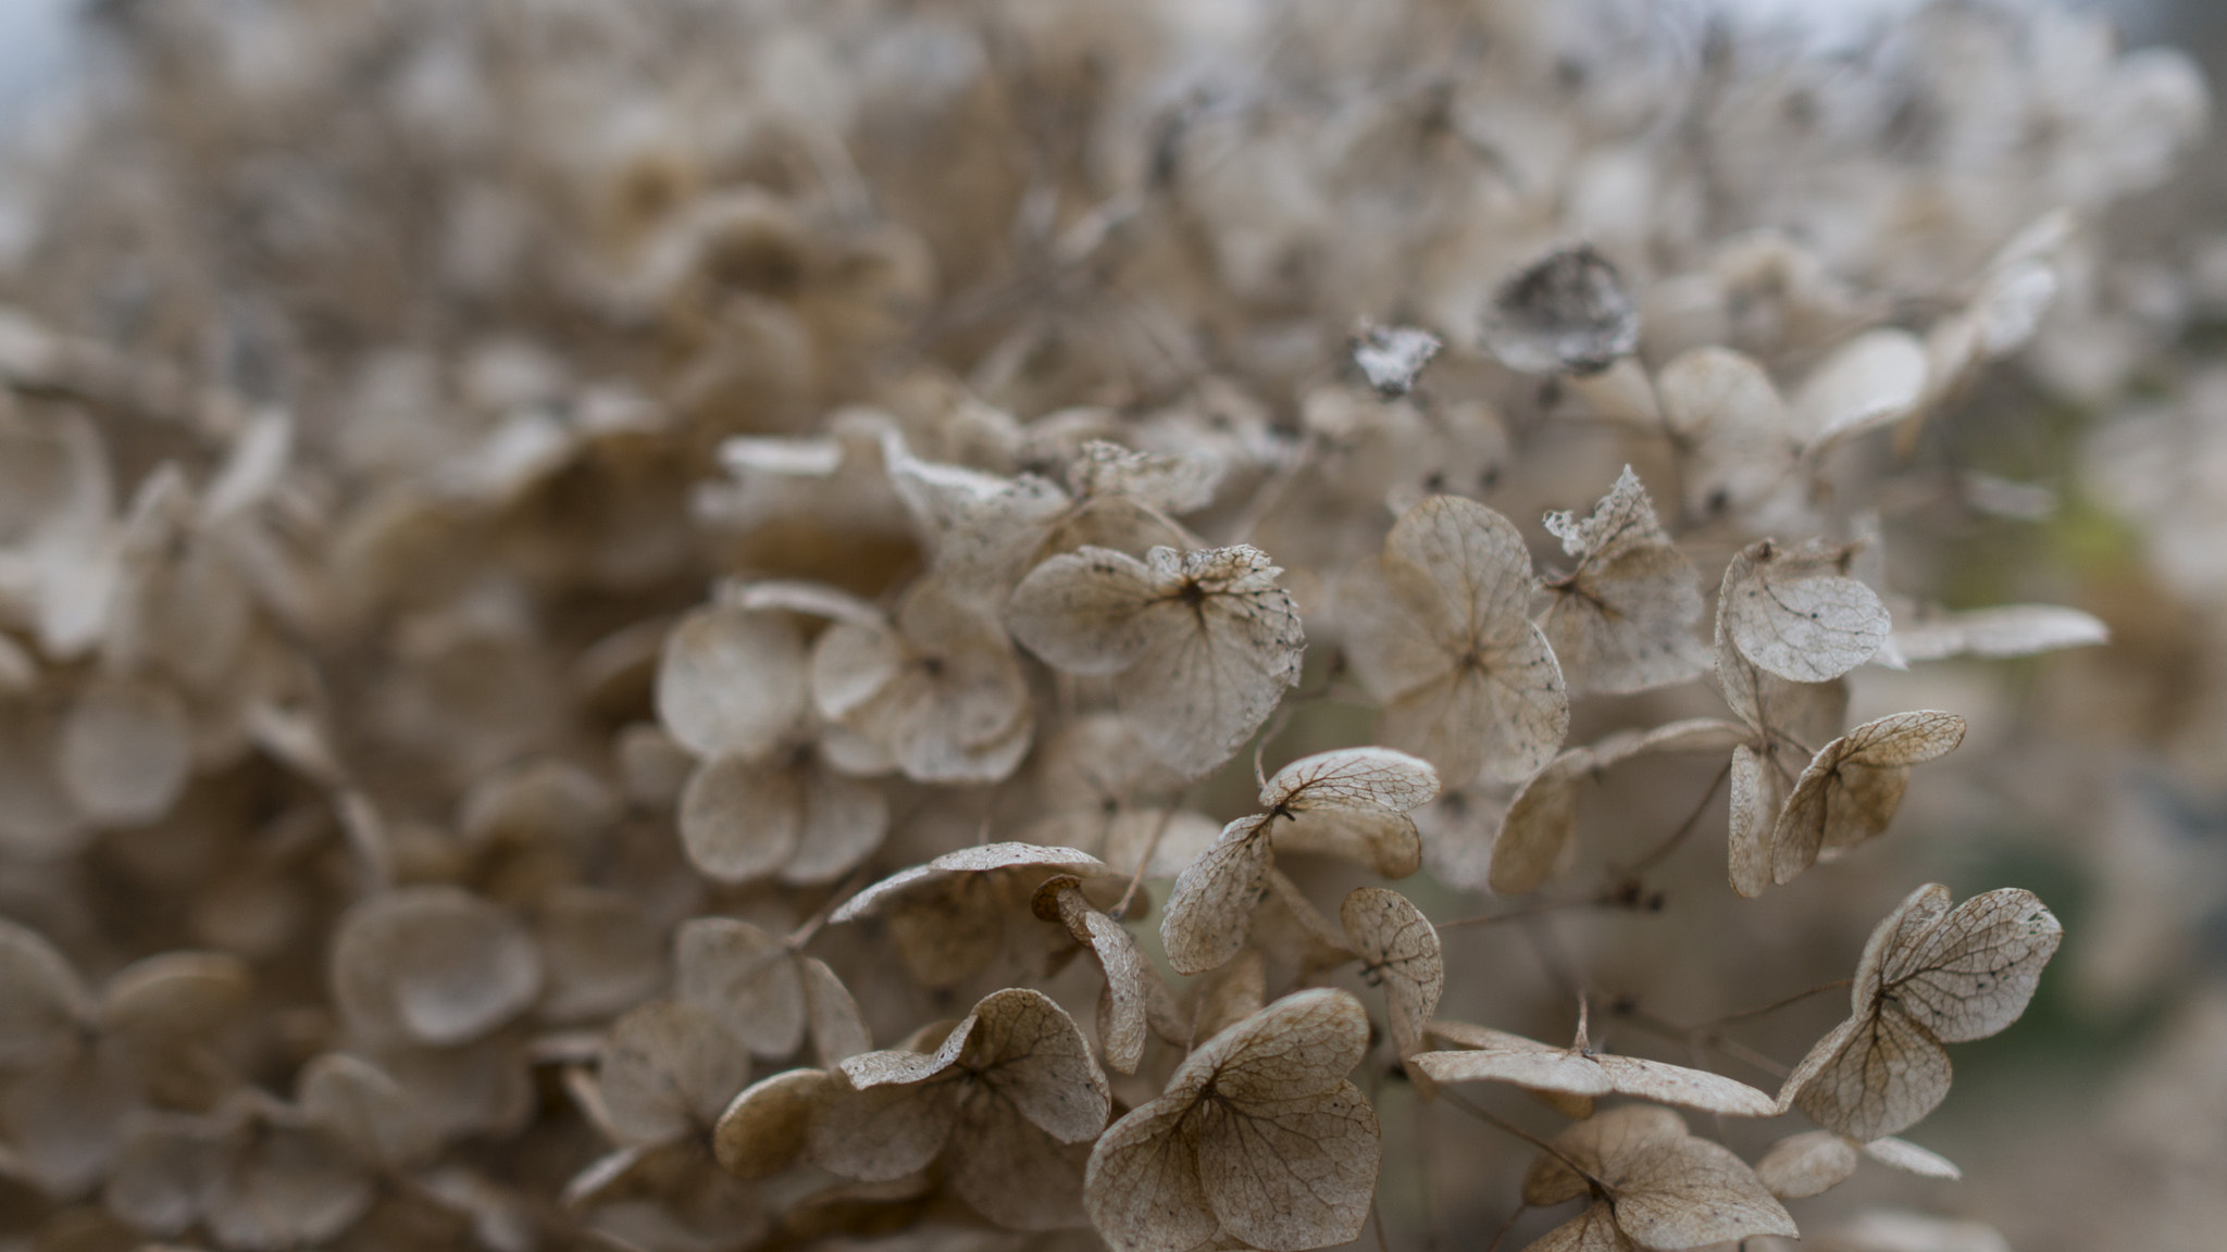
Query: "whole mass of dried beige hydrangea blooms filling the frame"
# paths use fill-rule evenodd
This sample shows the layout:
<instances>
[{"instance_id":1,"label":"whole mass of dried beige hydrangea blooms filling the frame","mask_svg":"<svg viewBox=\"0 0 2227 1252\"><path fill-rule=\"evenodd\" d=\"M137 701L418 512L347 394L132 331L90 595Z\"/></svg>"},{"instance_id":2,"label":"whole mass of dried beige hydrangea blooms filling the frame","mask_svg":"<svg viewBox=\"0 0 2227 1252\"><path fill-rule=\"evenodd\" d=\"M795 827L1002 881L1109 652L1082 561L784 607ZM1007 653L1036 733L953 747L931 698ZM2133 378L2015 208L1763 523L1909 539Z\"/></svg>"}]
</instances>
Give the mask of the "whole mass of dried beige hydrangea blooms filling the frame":
<instances>
[{"instance_id":1,"label":"whole mass of dried beige hydrangea blooms filling the frame","mask_svg":"<svg viewBox=\"0 0 2227 1252\"><path fill-rule=\"evenodd\" d=\"M1390 1248L1407 1170L1668 1250L1955 1176L1893 1136L2058 920L1929 884L1857 958L1808 871L1900 873L1966 735L1853 679L2105 637L1882 552L1929 421L2109 325L2182 60L1978 4L1842 65L1639 0L102 20L0 267L7 1248ZM1855 976L1777 1074L1615 956L1788 893ZM1419 1161L1445 1107L1528 1172Z\"/></svg>"}]
</instances>

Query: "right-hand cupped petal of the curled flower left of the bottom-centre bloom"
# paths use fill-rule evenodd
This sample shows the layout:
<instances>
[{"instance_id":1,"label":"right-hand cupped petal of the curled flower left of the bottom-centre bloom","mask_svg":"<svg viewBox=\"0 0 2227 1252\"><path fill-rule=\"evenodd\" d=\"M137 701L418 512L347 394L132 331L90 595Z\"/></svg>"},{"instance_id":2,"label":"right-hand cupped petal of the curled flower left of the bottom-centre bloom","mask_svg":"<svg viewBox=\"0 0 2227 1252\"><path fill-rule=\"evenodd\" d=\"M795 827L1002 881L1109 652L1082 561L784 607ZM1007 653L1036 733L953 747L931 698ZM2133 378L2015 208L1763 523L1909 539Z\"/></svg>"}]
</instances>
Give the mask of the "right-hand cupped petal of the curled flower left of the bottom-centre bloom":
<instances>
[{"instance_id":1,"label":"right-hand cupped petal of the curled flower left of the bottom-centre bloom","mask_svg":"<svg viewBox=\"0 0 2227 1252\"><path fill-rule=\"evenodd\" d=\"M1042 991L984 996L960 1063L993 1094L1060 1143L1087 1143L1107 1125L1107 1078L1067 1009Z\"/></svg>"}]
</instances>

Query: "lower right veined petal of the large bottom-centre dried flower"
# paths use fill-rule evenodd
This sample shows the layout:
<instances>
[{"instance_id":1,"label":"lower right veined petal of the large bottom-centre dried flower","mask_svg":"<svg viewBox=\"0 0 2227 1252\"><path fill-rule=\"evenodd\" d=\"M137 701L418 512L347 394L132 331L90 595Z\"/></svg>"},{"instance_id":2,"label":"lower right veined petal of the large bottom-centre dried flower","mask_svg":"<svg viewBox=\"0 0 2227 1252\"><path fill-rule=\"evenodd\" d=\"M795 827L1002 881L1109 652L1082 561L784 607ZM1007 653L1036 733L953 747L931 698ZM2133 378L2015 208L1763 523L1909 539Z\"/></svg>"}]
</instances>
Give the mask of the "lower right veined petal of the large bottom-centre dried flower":
<instances>
[{"instance_id":1,"label":"lower right veined petal of the large bottom-centre dried flower","mask_svg":"<svg viewBox=\"0 0 2227 1252\"><path fill-rule=\"evenodd\" d=\"M1272 1069L1252 1056L1247 1063ZM1198 1178L1223 1230L1267 1252L1330 1248L1361 1234L1383 1138L1358 1087L1338 1083L1283 1098L1247 1087L1200 1103L1194 1116Z\"/></svg>"}]
</instances>

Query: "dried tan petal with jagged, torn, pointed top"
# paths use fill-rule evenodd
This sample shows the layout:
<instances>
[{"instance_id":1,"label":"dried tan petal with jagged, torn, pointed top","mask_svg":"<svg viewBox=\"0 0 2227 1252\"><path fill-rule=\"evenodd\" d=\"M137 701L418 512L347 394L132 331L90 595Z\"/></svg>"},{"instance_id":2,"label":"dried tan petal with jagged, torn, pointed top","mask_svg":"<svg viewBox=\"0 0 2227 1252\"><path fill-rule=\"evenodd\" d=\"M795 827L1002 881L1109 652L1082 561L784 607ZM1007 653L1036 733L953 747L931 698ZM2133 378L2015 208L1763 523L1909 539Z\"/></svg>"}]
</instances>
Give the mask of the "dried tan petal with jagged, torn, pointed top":
<instances>
[{"instance_id":1,"label":"dried tan petal with jagged, torn, pointed top","mask_svg":"<svg viewBox=\"0 0 2227 1252\"><path fill-rule=\"evenodd\" d=\"M1572 693L1646 691L1708 668L1693 630L1701 619L1699 575L1670 546L1630 466L1592 517L1550 512L1546 528L1577 557L1568 575L1546 579L1539 617Z\"/></svg>"}]
</instances>

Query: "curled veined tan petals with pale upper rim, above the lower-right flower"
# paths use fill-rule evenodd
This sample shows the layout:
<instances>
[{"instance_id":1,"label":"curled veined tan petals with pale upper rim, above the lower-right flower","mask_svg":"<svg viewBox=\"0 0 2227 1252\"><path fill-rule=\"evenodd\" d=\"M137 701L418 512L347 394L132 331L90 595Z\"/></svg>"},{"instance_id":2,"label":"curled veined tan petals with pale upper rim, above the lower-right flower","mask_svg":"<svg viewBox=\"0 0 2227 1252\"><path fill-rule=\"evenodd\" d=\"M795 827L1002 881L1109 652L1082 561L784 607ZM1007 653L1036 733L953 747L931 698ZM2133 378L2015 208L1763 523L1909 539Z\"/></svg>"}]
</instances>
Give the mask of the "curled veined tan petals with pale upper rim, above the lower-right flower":
<instances>
[{"instance_id":1,"label":"curled veined tan petals with pale upper rim, above the lower-right flower","mask_svg":"<svg viewBox=\"0 0 2227 1252\"><path fill-rule=\"evenodd\" d=\"M1886 831L1909 786L1909 766L1964 742L1955 713L1893 713L1833 740L1795 780L1770 829L1770 880L1793 882L1819 853L1855 847Z\"/></svg>"}]
</instances>

